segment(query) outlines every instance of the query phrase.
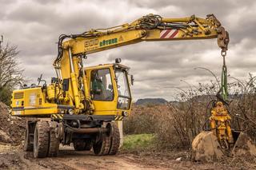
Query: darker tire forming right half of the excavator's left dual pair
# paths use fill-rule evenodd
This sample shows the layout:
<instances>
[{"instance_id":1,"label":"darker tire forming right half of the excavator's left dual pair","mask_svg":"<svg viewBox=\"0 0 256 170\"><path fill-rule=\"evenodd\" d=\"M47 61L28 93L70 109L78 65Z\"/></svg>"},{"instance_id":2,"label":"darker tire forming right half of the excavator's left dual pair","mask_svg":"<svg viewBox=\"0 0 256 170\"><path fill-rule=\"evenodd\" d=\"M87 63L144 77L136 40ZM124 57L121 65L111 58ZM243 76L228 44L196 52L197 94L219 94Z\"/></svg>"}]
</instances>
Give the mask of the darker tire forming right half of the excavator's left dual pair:
<instances>
[{"instance_id":1,"label":"darker tire forming right half of the excavator's left dual pair","mask_svg":"<svg viewBox=\"0 0 256 170\"><path fill-rule=\"evenodd\" d=\"M53 122L49 122L49 125ZM58 156L58 150L59 150L59 140L55 136L54 128L50 129L49 132L50 135L50 142L49 142L49 151L48 156L50 157L56 157Z\"/></svg>"}]
</instances>

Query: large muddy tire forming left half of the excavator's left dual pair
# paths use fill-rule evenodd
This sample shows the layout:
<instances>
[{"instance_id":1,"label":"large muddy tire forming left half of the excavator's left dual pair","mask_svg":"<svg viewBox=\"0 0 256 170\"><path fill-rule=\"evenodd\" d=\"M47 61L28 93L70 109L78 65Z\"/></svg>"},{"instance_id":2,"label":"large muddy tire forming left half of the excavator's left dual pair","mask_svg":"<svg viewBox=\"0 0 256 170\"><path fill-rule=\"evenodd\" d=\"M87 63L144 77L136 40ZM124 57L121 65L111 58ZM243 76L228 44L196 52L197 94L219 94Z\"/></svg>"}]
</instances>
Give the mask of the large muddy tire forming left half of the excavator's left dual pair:
<instances>
[{"instance_id":1,"label":"large muddy tire forming left half of the excavator's left dual pair","mask_svg":"<svg viewBox=\"0 0 256 170\"><path fill-rule=\"evenodd\" d=\"M38 121L34 128L34 157L43 158L48 155L49 125L47 121Z\"/></svg>"}]
</instances>

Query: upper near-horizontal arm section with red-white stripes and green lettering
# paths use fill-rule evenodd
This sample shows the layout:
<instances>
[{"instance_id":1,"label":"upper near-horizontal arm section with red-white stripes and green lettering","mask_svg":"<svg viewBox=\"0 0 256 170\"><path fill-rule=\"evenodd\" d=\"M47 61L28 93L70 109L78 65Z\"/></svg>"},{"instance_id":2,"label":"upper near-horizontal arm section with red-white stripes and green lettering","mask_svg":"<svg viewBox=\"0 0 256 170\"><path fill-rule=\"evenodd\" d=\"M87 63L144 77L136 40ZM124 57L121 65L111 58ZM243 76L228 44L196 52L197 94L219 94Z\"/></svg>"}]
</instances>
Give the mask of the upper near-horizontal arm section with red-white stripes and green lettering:
<instances>
[{"instance_id":1,"label":"upper near-horizontal arm section with red-white stripes and green lettering","mask_svg":"<svg viewBox=\"0 0 256 170\"><path fill-rule=\"evenodd\" d=\"M70 38L61 45L64 38ZM138 20L108 29L86 31L83 34L63 35L60 38L62 49L72 48L72 53L89 54L106 49L138 42L173 41L188 39L218 38L218 46L226 53L229 36L213 14L206 18L162 18L149 14ZM59 53L62 55L62 53ZM54 61L58 63L59 57Z\"/></svg>"}]
</instances>

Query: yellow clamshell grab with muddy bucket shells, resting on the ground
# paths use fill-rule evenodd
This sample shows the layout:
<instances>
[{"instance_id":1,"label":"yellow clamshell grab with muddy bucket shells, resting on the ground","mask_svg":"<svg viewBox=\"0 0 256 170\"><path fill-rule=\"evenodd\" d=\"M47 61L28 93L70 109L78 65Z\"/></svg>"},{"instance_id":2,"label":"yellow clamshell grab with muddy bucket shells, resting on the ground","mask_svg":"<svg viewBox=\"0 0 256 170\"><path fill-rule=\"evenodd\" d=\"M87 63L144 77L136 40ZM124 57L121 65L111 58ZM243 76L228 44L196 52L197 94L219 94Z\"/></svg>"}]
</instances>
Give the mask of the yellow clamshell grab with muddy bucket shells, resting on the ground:
<instances>
[{"instance_id":1,"label":"yellow clamshell grab with muddy bucket shells, resting on the ground","mask_svg":"<svg viewBox=\"0 0 256 170\"><path fill-rule=\"evenodd\" d=\"M256 147L244 132L231 130L230 115L221 101L211 110L211 131L203 131L192 142L192 159L214 161L222 156L256 156Z\"/></svg>"}]
</instances>

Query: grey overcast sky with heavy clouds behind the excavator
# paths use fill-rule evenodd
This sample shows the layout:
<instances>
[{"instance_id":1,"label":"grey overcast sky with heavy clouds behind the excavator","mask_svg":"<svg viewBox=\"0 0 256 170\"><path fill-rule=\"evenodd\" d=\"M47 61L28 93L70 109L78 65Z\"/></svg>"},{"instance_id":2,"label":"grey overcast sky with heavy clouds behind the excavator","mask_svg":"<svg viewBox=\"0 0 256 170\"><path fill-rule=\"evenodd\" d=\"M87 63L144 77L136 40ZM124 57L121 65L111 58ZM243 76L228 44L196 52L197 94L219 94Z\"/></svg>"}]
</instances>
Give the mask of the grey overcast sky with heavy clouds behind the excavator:
<instances>
[{"instance_id":1,"label":"grey overcast sky with heavy clouds behind the excavator","mask_svg":"<svg viewBox=\"0 0 256 170\"><path fill-rule=\"evenodd\" d=\"M34 82L54 77L52 63L60 34L78 34L132 22L146 14L181 18L215 14L230 33L227 66L231 76L256 74L256 1L254 0L0 0L0 34L18 45L25 76ZM179 42L142 42L88 55L86 65L114 62L130 66L134 99L163 97L172 100L173 87L186 88L214 78L201 66L220 75L222 57L216 39Z\"/></svg>"}]
</instances>

